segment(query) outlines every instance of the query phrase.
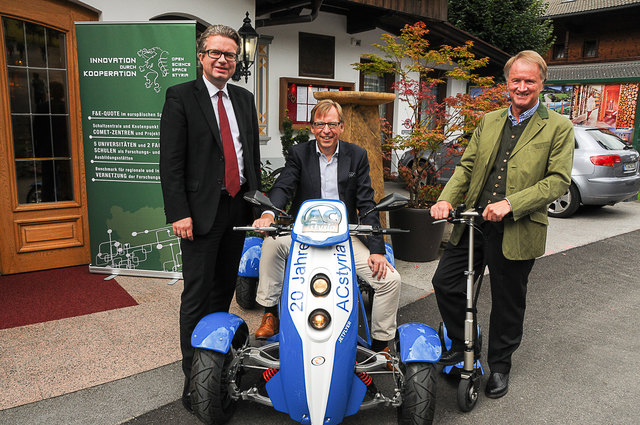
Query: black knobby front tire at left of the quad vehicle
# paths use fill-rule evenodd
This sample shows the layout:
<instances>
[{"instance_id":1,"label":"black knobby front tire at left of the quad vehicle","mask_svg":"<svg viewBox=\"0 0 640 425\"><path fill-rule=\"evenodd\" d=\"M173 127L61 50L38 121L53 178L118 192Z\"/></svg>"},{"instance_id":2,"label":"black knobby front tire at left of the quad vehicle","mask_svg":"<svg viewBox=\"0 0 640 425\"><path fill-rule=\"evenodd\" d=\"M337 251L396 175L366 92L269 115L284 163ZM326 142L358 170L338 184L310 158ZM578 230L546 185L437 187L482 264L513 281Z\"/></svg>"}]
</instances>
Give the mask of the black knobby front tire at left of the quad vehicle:
<instances>
[{"instance_id":1,"label":"black knobby front tire at left of the quad vehicle","mask_svg":"<svg viewBox=\"0 0 640 425\"><path fill-rule=\"evenodd\" d=\"M236 401L229 394L228 373L231 350L223 354L196 348L191 366L191 407L207 425L224 424L235 412Z\"/></svg>"}]
</instances>

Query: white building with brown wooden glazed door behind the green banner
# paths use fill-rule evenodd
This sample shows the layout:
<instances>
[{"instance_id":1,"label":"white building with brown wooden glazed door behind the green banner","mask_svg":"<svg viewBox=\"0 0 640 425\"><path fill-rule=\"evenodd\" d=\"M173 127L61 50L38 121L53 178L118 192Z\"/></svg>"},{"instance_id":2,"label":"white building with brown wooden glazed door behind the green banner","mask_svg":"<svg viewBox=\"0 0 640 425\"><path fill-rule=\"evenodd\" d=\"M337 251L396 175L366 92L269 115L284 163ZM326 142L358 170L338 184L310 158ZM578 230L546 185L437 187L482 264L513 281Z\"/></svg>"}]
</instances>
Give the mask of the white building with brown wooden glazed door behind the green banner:
<instances>
[{"instance_id":1,"label":"white building with brown wooden glazed door behind the green banner","mask_svg":"<svg viewBox=\"0 0 640 425\"><path fill-rule=\"evenodd\" d=\"M388 78L352 66L377 53L372 44L385 32L424 20L433 45L472 38L446 22L446 0L0 0L0 274L90 263L75 22L192 20L198 34L215 23L240 28L246 12L260 42L251 76L237 84L256 96L261 155L274 167L283 163L282 99L291 84L390 91ZM500 68L506 55L475 41L476 53ZM446 87L447 95L464 91L455 81ZM387 108L398 131L408 112L397 100Z\"/></svg>"}]
</instances>

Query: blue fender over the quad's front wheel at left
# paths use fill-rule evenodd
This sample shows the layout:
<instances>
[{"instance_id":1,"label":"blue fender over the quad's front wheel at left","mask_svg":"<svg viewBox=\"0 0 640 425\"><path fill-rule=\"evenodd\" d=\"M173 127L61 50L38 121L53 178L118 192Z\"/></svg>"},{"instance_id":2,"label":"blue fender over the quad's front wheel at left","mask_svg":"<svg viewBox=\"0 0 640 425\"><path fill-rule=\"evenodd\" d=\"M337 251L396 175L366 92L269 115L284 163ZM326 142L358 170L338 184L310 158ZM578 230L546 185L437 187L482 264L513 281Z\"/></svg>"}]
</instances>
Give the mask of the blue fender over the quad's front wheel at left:
<instances>
[{"instance_id":1,"label":"blue fender over the quad's front wheel at left","mask_svg":"<svg viewBox=\"0 0 640 425\"><path fill-rule=\"evenodd\" d=\"M191 334L191 345L226 353L233 336L243 323L244 320L232 313L211 313L196 325Z\"/></svg>"}]
</instances>

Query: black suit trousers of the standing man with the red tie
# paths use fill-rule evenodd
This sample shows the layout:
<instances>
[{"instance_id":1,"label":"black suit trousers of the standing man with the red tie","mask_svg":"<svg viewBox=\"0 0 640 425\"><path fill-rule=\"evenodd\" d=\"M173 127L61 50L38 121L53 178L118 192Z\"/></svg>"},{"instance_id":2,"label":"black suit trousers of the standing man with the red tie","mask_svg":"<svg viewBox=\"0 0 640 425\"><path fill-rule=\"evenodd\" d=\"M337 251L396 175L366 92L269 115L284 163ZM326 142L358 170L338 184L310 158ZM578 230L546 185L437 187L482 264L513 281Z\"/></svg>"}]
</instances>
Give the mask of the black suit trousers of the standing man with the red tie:
<instances>
[{"instance_id":1,"label":"black suit trousers of the standing man with the red tie","mask_svg":"<svg viewBox=\"0 0 640 425\"><path fill-rule=\"evenodd\" d=\"M242 199L242 191L235 198L224 192L209 233L194 235L193 241L183 239L180 243L184 279L180 349L182 370L187 378L191 377L193 362L193 329L207 314L229 311L244 244L244 232L234 231L233 226L250 225L251 217L251 208Z\"/></svg>"}]
</instances>

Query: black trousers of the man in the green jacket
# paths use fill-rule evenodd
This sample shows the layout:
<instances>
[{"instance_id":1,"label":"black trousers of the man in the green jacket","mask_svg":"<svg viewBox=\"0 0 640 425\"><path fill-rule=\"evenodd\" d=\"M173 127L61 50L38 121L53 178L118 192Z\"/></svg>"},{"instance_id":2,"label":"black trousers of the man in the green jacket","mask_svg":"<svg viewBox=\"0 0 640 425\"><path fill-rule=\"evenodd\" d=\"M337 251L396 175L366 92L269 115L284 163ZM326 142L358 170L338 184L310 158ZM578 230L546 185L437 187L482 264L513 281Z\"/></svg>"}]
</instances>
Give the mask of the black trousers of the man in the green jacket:
<instances>
[{"instance_id":1,"label":"black trousers of the man in the green jacket","mask_svg":"<svg viewBox=\"0 0 640 425\"><path fill-rule=\"evenodd\" d=\"M492 372L508 373L511 356L522 341L527 282L535 259L506 259L499 226L485 222L480 227L483 235L474 235L474 269L477 279L484 260L491 279L488 363ZM464 350L468 232L467 227L457 246L447 244L432 280L440 315L456 351Z\"/></svg>"}]
</instances>

